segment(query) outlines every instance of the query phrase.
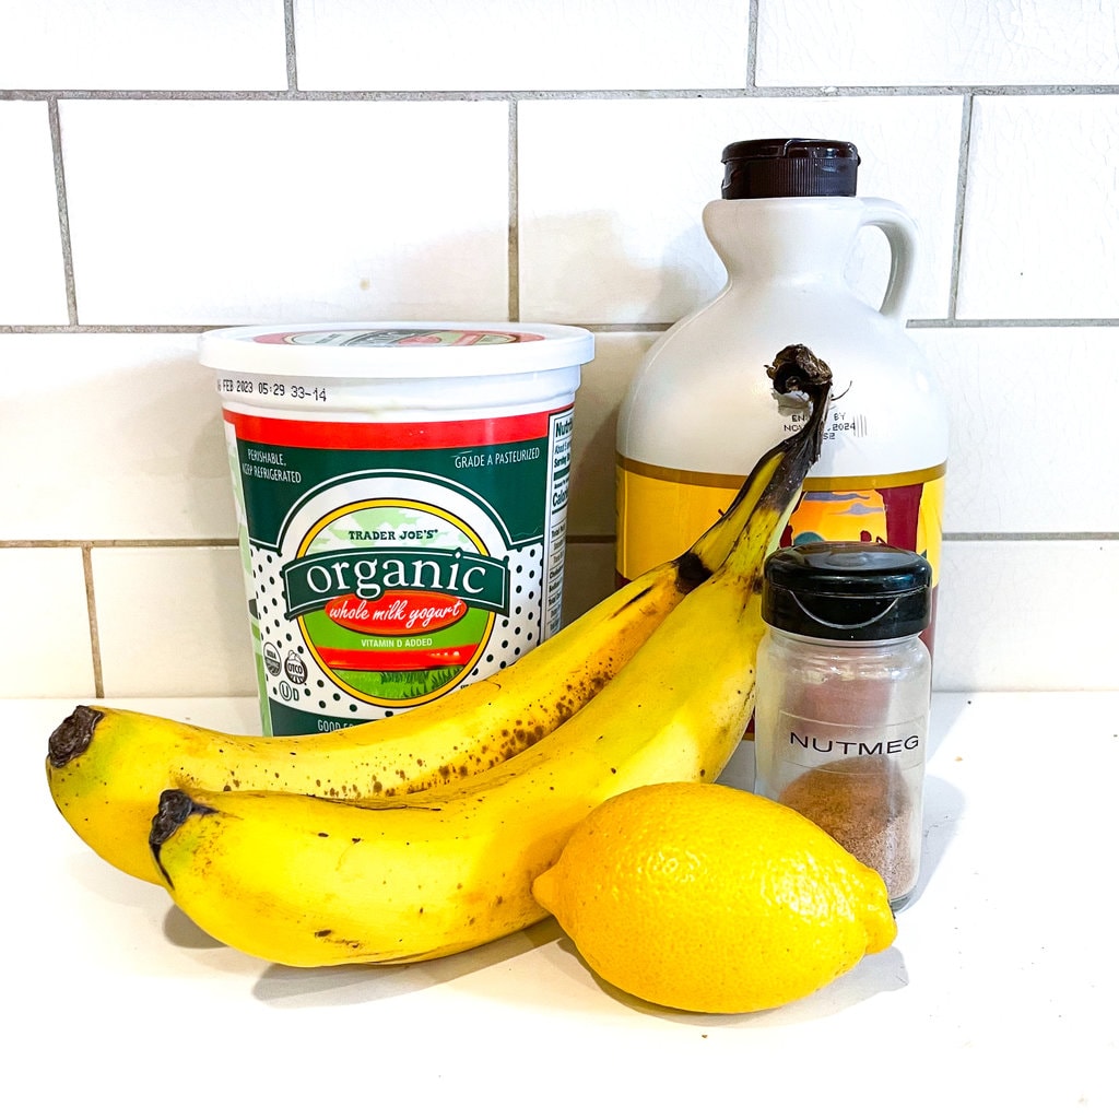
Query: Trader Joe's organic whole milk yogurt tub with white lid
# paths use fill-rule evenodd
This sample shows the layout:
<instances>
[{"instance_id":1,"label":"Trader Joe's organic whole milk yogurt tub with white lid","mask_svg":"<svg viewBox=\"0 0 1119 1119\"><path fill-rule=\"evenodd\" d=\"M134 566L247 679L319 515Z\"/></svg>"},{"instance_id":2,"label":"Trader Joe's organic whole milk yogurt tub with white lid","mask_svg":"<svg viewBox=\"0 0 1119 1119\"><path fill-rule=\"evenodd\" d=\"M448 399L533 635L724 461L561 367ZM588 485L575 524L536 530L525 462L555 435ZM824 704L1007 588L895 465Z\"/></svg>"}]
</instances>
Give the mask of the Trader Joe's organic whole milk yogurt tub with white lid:
<instances>
[{"instance_id":1,"label":"Trader Joe's organic whole milk yogurt tub with white lid","mask_svg":"<svg viewBox=\"0 0 1119 1119\"><path fill-rule=\"evenodd\" d=\"M352 726L561 626L586 330L340 322L201 336L266 734Z\"/></svg>"}]
</instances>

